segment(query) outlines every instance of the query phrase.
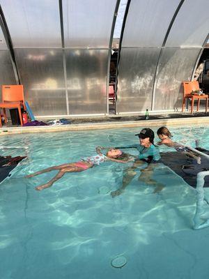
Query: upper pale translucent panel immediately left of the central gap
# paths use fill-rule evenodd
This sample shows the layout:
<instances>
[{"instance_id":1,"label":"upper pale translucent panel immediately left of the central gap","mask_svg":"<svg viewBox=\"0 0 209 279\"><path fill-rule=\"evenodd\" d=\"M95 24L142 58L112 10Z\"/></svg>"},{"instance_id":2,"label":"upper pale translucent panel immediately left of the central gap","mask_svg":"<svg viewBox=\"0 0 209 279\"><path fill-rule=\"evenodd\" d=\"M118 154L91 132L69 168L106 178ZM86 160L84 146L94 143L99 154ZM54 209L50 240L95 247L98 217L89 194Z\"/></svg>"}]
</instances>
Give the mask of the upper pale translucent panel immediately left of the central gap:
<instances>
[{"instance_id":1,"label":"upper pale translucent panel immediately left of the central gap","mask_svg":"<svg viewBox=\"0 0 209 279\"><path fill-rule=\"evenodd\" d=\"M65 47L108 48L116 0L63 0Z\"/></svg>"}]
</instances>

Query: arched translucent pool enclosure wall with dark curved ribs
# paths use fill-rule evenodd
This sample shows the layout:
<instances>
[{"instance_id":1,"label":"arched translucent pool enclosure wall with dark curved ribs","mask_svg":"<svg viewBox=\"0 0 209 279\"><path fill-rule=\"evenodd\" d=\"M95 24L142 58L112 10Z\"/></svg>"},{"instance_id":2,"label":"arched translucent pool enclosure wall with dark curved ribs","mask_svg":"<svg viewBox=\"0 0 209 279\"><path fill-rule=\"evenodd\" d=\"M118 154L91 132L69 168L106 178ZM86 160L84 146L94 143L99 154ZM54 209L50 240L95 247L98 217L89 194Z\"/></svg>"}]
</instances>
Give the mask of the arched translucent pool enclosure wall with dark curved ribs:
<instances>
[{"instance_id":1,"label":"arched translucent pool enclosure wall with dark curved ribs","mask_svg":"<svg viewBox=\"0 0 209 279\"><path fill-rule=\"evenodd\" d=\"M24 84L36 116L109 114L109 64L119 4L2 0L1 84ZM117 114L180 107L181 82L192 79L208 40L208 6L208 0L127 1Z\"/></svg>"}]
</instances>

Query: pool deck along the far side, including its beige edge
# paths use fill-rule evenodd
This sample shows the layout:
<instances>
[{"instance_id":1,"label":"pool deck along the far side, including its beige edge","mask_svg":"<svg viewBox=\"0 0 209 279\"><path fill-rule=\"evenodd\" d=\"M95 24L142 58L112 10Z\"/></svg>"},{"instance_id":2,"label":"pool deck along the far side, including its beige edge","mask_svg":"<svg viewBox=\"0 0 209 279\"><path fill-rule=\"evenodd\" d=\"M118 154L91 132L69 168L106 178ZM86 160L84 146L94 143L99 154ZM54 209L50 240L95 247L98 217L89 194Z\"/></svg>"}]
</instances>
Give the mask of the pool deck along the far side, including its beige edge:
<instances>
[{"instance_id":1,"label":"pool deck along the far side, including its beige edge","mask_svg":"<svg viewBox=\"0 0 209 279\"><path fill-rule=\"evenodd\" d=\"M176 117L175 117L176 116ZM45 120L43 120L45 121ZM154 127L154 126L182 126L182 125L203 125L209 124L209 114L167 114L150 116L150 119L144 120L142 116L111 116L111 117L88 117L70 119L68 125L56 126L11 126L3 125L0 128L0 135L20 134L20 133L45 133L61 132L72 130L97 130L112 128L131 128L131 127Z\"/></svg>"}]
</instances>

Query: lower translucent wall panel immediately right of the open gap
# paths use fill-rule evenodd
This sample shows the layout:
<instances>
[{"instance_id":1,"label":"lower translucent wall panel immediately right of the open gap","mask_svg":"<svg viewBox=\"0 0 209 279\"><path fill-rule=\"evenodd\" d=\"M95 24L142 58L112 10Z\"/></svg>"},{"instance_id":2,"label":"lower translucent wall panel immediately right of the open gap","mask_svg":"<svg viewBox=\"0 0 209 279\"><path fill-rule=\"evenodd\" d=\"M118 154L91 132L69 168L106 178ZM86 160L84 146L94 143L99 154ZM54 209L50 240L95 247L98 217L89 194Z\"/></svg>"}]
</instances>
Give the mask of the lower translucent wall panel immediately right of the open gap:
<instances>
[{"instance_id":1,"label":"lower translucent wall panel immediately right of the open gap","mask_svg":"<svg viewBox=\"0 0 209 279\"><path fill-rule=\"evenodd\" d=\"M160 49L122 49L118 68L118 112L150 110Z\"/></svg>"}]
</instances>

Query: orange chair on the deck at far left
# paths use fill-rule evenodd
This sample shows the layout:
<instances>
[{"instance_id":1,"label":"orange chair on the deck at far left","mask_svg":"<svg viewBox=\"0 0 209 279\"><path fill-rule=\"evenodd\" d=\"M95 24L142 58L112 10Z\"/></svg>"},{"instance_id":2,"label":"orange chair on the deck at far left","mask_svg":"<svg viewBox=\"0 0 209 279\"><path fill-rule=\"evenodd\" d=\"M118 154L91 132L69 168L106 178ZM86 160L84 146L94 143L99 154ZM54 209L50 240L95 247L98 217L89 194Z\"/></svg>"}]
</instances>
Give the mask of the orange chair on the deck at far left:
<instances>
[{"instance_id":1,"label":"orange chair on the deck at far left","mask_svg":"<svg viewBox=\"0 0 209 279\"><path fill-rule=\"evenodd\" d=\"M0 110L3 109L3 116L5 122L8 122L6 117L6 109L17 108L20 116L21 126L22 122L22 112L21 107L24 107L24 91L23 85L2 85L2 103L0 103ZM1 122L0 122L1 125Z\"/></svg>"}]
</instances>

